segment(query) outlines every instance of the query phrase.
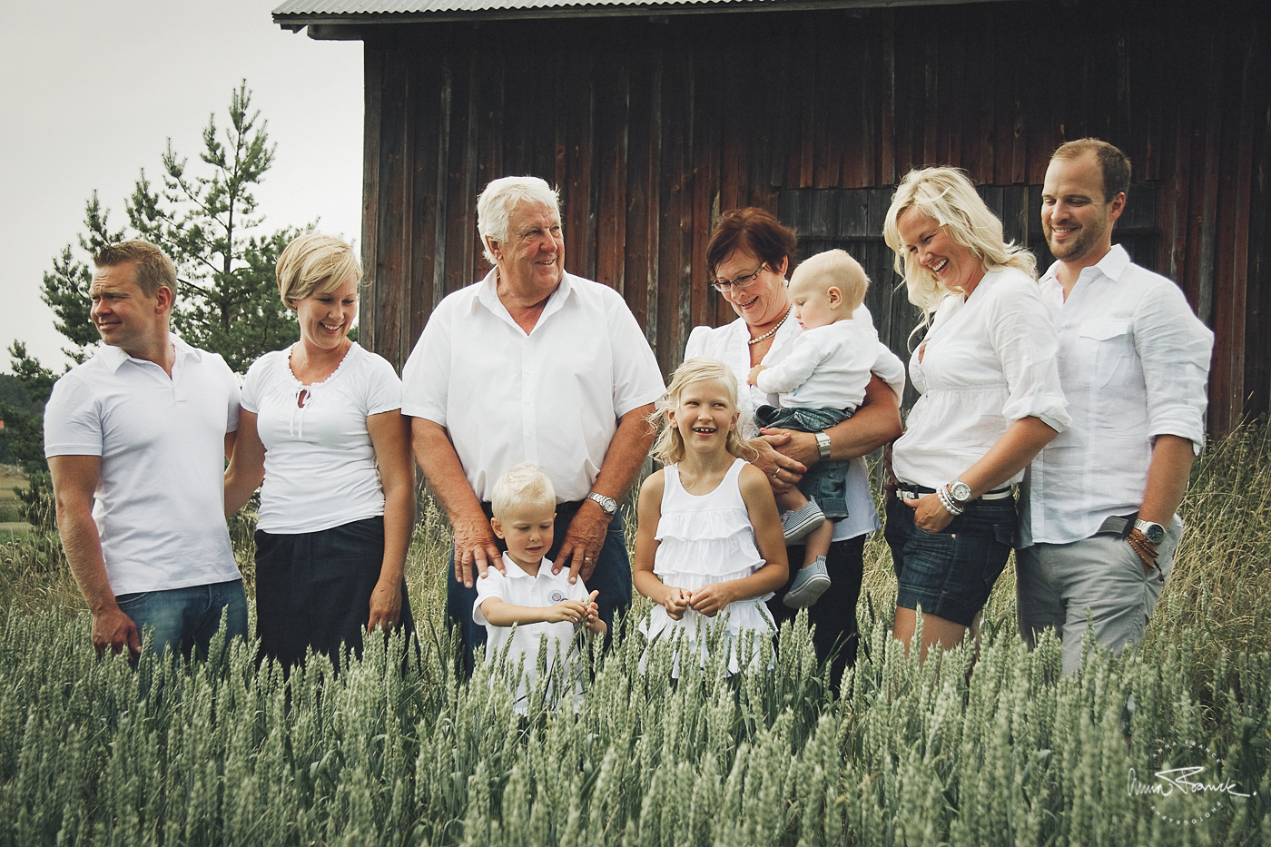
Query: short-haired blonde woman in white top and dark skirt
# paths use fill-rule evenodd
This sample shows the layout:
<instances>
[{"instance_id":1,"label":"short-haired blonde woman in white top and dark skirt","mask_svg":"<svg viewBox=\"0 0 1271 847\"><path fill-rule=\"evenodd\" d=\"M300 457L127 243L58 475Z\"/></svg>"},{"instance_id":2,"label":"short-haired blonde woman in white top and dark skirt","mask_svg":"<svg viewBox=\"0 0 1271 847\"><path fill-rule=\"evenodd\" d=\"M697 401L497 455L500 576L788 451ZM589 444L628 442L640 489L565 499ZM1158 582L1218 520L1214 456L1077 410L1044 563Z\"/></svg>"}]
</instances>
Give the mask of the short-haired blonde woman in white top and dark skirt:
<instances>
[{"instance_id":1,"label":"short-haired blonde woman in white top and dark skirt","mask_svg":"<svg viewBox=\"0 0 1271 847\"><path fill-rule=\"evenodd\" d=\"M405 551L414 473L402 383L350 340L361 268L344 242L316 233L278 257L282 301L300 340L252 364L225 509L262 479L255 532L261 652L285 668L308 650L362 652L362 628L413 631Z\"/></svg>"}]
</instances>

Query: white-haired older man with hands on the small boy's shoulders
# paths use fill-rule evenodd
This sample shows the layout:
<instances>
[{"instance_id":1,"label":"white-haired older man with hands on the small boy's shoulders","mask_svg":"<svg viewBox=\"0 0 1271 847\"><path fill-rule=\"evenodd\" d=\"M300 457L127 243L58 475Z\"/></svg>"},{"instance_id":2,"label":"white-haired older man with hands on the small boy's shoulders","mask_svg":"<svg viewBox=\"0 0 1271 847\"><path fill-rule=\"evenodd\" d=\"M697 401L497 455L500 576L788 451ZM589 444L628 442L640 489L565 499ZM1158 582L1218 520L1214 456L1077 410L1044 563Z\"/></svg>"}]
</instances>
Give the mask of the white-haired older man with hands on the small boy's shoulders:
<instances>
[{"instance_id":1,"label":"white-haired older man with hands on the small boy's shoulders","mask_svg":"<svg viewBox=\"0 0 1271 847\"><path fill-rule=\"evenodd\" d=\"M447 613L465 661L486 641L473 621L474 579L502 570L489 525L494 481L521 462L557 492L548 558L599 590L610 632L630 604L618 500L653 441L646 421L662 396L648 341L613 289L564 271L557 192L505 177L477 202L493 270L437 304L402 374L414 455L454 527Z\"/></svg>"}]
</instances>

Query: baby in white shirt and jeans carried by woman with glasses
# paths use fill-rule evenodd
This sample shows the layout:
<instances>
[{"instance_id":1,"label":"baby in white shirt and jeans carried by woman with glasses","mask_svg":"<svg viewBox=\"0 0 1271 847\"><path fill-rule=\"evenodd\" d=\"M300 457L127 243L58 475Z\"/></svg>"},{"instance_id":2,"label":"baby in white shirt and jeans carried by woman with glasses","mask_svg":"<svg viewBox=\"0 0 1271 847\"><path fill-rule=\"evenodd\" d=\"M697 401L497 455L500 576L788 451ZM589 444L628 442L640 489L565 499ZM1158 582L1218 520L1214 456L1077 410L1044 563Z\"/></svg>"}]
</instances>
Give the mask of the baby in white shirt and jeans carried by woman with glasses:
<instances>
[{"instance_id":1,"label":"baby in white shirt and jeans carried by woman with glasses","mask_svg":"<svg viewBox=\"0 0 1271 847\"><path fill-rule=\"evenodd\" d=\"M779 365L755 365L747 382L780 394L780 408L760 406L755 420L764 427L820 432L848 420L864 399L869 369L877 357L878 333L852 319L864 303L869 277L845 251L826 251L803 261L789 282L789 298L802 334ZM848 516L846 462L819 462L797 488L777 495L784 514L785 542L805 541L803 566L783 603L801 609L830 588L825 556L834 538L834 519Z\"/></svg>"}]
</instances>

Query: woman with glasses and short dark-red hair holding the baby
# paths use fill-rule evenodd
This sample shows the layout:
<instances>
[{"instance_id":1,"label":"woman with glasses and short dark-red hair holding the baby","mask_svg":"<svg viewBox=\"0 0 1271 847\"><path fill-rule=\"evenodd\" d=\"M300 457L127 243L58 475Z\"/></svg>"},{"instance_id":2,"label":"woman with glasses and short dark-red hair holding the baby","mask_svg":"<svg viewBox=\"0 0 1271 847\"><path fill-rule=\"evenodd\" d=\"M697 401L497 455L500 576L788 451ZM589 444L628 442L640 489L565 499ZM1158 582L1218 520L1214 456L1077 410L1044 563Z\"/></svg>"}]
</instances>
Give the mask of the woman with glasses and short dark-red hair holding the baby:
<instances>
[{"instance_id":1,"label":"woman with glasses and short dark-red hair holding the baby","mask_svg":"<svg viewBox=\"0 0 1271 847\"><path fill-rule=\"evenodd\" d=\"M777 406L778 398L747 385L746 378L755 365L773 366L784 360L802 332L785 289L785 277L793 270L794 249L793 230L783 226L770 212L763 209L724 212L707 244L707 270L714 280L713 287L738 317L723 327L694 328L684 357L719 359L736 374L741 388L742 435L759 451L754 464L773 481L773 488L782 491L793 486L817 462L849 462L849 515L835 524L830 554L826 556L830 588L808 608L810 621L816 624L813 641L817 658L821 661L834 659L831 680L838 688L844 666L855 658L855 609L860 594L864 539L880 527L863 457L900 435L905 368L880 343L864 403L849 420L820 432L780 429L760 432L755 427L755 410ZM864 306L853 318L872 326ZM799 561L803 551L793 549L791 556ZM792 570L791 581L796 574L797 568ZM778 622L794 614L783 603L788 588L789 584L769 602Z\"/></svg>"}]
</instances>

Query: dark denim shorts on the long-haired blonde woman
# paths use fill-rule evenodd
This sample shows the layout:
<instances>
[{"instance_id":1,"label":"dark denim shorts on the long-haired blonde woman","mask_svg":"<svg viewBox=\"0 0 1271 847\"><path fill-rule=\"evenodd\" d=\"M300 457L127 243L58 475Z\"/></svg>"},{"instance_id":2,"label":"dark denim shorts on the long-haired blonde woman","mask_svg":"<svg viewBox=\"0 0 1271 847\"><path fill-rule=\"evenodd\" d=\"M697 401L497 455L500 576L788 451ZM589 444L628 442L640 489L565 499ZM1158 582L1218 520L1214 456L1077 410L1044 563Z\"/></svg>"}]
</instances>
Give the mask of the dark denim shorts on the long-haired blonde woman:
<instances>
[{"instance_id":1,"label":"dark denim shorts on the long-haired blonde woman","mask_svg":"<svg viewBox=\"0 0 1271 847\"><path fill-rule=\"evenodd\" d=\"M923 608L971 626L1007 566L1016 533L1016 501L974 500L942 532L914 523L914 509L896 497L887 500L887 544L896 567L896 607Z\"/></svg>"}]
</instances>

